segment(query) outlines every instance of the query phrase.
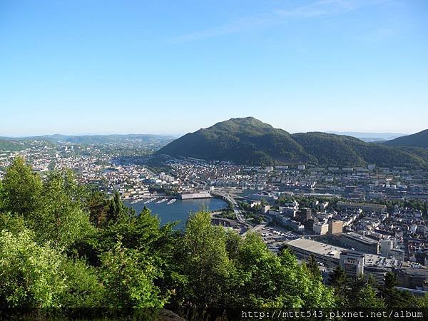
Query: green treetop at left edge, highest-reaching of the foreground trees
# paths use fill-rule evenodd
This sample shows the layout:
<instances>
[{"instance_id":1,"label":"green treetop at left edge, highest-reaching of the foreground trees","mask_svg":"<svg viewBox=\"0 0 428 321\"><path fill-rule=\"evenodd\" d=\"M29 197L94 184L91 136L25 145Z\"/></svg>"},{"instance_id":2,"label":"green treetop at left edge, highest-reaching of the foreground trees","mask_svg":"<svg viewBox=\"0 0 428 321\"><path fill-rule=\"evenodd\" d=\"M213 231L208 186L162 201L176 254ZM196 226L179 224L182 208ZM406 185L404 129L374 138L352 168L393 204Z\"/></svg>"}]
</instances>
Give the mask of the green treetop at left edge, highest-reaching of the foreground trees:
<instances>
[{"instance_id":1,"label":"green treetop at left edge, highest-reaching of the foreground trees","mask_svg":"<svg viewBox=\"0 0 428 321\"><path fill-rule=\"evenodd\" d=\"M40 176L23 158L15 158L4 175L0 203L4 211L29 218L39 207L41 188Z\"/></svg>"}]
</instances>

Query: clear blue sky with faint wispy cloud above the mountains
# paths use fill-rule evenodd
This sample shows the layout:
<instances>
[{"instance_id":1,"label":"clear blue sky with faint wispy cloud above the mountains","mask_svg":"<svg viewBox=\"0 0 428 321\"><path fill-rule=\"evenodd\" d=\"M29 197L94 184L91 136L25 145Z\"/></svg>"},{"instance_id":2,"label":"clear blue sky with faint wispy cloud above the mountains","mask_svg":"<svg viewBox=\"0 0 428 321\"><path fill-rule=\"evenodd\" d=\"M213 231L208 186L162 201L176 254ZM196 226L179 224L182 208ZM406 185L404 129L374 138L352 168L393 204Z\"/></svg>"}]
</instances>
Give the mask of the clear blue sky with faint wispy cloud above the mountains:
<instances>
[{"instance_id":1,"label":"clear blue sky with faint wispy cloud above the mountains","mask_svg":"<svg viewBox=\"0 0 428 321\"><path fill-rule=\"evenodd\" d=\"M0 0L0 136L428 128L426 0Z\"/></svg>"}]
</instances>

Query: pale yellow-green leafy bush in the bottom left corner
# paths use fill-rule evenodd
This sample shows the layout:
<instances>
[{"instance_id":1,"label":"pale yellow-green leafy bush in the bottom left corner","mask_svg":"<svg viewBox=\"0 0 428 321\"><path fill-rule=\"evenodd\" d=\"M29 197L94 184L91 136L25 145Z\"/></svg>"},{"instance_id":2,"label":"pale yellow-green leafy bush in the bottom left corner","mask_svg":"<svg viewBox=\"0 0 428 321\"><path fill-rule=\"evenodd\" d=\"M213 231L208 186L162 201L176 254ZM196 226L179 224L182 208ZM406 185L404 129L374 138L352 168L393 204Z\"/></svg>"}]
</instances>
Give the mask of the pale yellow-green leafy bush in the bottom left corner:
<instances>
[{"instance_id":1,"label":"pale yellow-green leafy bush in the bottom left corner","mask_svg":"<svg viewBox=\"0 0 428 321\"><path fill-rule=\"evenodd\" d=\"M66 289L61 256L49 245L38 245L33 233L0 234L0 306L57 307Z\"/></svg>"}]
</instances>

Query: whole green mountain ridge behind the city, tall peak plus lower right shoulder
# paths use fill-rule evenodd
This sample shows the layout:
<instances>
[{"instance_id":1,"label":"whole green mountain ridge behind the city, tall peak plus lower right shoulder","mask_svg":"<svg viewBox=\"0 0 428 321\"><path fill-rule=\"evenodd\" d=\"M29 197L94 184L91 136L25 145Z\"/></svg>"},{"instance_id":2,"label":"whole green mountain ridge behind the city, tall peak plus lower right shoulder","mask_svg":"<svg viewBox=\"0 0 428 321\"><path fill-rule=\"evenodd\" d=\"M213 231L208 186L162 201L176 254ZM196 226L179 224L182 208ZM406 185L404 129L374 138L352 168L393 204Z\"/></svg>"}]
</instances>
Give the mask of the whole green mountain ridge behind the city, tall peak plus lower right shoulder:
<instances>
[{"instance_id":1,"label":"whole green mountain ridge behind the city, tall peak plus lower right shoulder","mask_svg":"<svg viewBox=\"0 0 428 321\"><path fill-rule=\"evenodd\" d=\"M253 117L232 118L188 133L156 152L249 165L312 163L315 165L406 166L428 168L422 148L389 147L332 133L290 134Z\"/></svg>"}]
</instances>

